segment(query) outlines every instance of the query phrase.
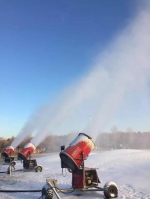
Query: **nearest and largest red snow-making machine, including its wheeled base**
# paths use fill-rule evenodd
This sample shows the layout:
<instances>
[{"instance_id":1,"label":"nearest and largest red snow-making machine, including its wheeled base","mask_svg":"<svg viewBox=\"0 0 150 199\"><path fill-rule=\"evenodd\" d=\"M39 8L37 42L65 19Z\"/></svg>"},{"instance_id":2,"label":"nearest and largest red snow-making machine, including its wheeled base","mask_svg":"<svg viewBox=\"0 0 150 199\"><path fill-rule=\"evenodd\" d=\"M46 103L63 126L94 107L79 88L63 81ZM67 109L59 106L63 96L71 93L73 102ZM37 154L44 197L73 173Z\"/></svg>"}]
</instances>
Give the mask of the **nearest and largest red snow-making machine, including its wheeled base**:
<instances>
[{"instance_id":1,"label":"nearest and largest red snow-making machine, including its wheeled base","mask_svg":"<svg viewBox=\"0 0 150 199\"><path fill-rule=\"evenodd\" d=\"M106 198L116 198L118 196L118 188L114 182L107 182L104 187L100 187L101 183L96 168L84 166L90 152L94 149L92 138L84 133L79 135L65 149L61 146L60 159L61 168L67 168L72 173L72 192L73 191L102 191ZM46 185L42 189L42 195L45 199L52 199L53 192L60 199L58 192L67 193L67 190L60 190L56 186L56 180L47 179Z\"/></svg>"}]
</instances>

